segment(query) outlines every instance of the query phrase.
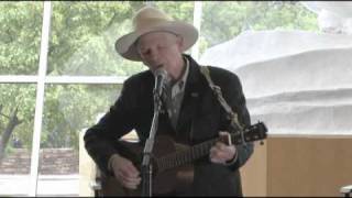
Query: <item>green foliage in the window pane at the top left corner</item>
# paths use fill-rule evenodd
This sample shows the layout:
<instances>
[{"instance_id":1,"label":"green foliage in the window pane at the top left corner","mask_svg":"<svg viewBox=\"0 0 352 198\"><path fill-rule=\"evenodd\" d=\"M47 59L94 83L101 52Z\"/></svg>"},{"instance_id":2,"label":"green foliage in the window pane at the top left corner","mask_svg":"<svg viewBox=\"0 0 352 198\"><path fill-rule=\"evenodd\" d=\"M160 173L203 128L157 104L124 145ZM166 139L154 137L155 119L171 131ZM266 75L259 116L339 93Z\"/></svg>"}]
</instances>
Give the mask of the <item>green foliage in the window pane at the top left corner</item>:
<instances>
[{"instance_id":1,"label":"green foliage in the window pane at the top left corner","mask_svg":"<svg viewBox=\"0 0 352 198\"><path fill-rule=\"evenodd\" d=\"M1 2L0 11L0 75L35 75L43 4Z\"/></svg>"}]
</instances>

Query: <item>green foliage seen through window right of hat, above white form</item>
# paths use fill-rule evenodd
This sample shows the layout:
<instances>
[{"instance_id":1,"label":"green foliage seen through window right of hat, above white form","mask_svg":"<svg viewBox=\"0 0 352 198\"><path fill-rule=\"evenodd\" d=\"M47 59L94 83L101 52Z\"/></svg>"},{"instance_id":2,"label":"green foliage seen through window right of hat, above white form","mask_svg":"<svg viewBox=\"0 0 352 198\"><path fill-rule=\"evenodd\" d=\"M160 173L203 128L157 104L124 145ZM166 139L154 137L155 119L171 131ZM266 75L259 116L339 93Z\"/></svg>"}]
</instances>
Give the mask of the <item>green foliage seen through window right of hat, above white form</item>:
<instances>
[{"instance_id":1,"label":"green foliage seen through window right of hat, above white form","mask_svg":"<svg viewBox=\"0 0 352 198\"><path fill-rule=\"evenodd\" d=\"M207 1L202 7L200 54L245 30L318 31L317 15L298 1Z\"/></svg>"}]
</instances>

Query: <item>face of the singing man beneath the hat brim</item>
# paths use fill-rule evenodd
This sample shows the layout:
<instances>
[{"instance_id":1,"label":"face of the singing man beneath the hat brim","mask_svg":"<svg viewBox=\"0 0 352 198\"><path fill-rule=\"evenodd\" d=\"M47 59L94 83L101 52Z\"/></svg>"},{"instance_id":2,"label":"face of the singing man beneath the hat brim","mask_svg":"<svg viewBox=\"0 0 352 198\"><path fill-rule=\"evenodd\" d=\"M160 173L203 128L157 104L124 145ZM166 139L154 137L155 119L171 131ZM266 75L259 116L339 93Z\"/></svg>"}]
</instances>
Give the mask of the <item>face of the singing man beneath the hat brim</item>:
<instances>
[{"instance_id":1,"label":"face of the singing man beneath the hat brim","mask_svg":"<svg viewBox=\"0 0 352 198\"><path fill-rule=\"evenodd\" d=\"M138 52L144 65L152 72L160 67L173 76L175 70L182 69L182 38L167 32L152 32L144 34L136 43ZM180 68L178 68L180 67Z\"/></svg>"}]
</instances>

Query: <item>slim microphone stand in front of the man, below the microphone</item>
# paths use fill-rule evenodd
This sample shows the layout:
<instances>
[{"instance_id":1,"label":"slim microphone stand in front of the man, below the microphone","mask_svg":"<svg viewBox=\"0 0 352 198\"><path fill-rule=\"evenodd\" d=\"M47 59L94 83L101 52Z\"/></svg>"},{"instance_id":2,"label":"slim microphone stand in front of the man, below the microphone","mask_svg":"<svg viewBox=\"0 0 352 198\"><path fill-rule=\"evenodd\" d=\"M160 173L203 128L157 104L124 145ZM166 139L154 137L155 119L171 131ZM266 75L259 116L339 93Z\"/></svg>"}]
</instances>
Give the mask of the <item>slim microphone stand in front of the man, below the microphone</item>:
<instances>
[{"instance_id":1,"label":"slim microphone stand in front of the man, below the microphone","mask_svg":"<svg viewBox=\"0 0 352 198\"><path fill-rule=\"evenodd\" d=\"M153 177L153 166L151 163L152 151L154 146L154 138L158 125L158 114L162 109L161 96L154 90L154 116L152 121L152 127L150 131L150 136L145 142L143 151L142 161L142 197L152 197L152 177Z\"/></svg>"}]
</instances>

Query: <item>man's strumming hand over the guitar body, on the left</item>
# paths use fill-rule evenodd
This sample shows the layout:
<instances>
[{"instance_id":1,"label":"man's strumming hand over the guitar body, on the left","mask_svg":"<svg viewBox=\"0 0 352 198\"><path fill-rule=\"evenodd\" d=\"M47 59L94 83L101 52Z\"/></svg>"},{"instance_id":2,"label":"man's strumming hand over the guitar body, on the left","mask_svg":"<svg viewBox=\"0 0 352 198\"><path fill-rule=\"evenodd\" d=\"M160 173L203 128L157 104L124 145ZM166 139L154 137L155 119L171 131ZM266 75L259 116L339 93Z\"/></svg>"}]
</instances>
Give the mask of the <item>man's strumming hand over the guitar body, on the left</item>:
<instances>
[{"instance_id":1,"label":"man's strumming hand over the guitar body, on the left","mask_svg":"<svg viewBox=\"0 0 352 198\"><path fill-rule=\"evenodd\" d=\"M114 177L120 184L130 189L136 189L141 183L140 172L133 165L133 163L118 154L111 156L111 169Z\"/></svg>"}]
</instances>

